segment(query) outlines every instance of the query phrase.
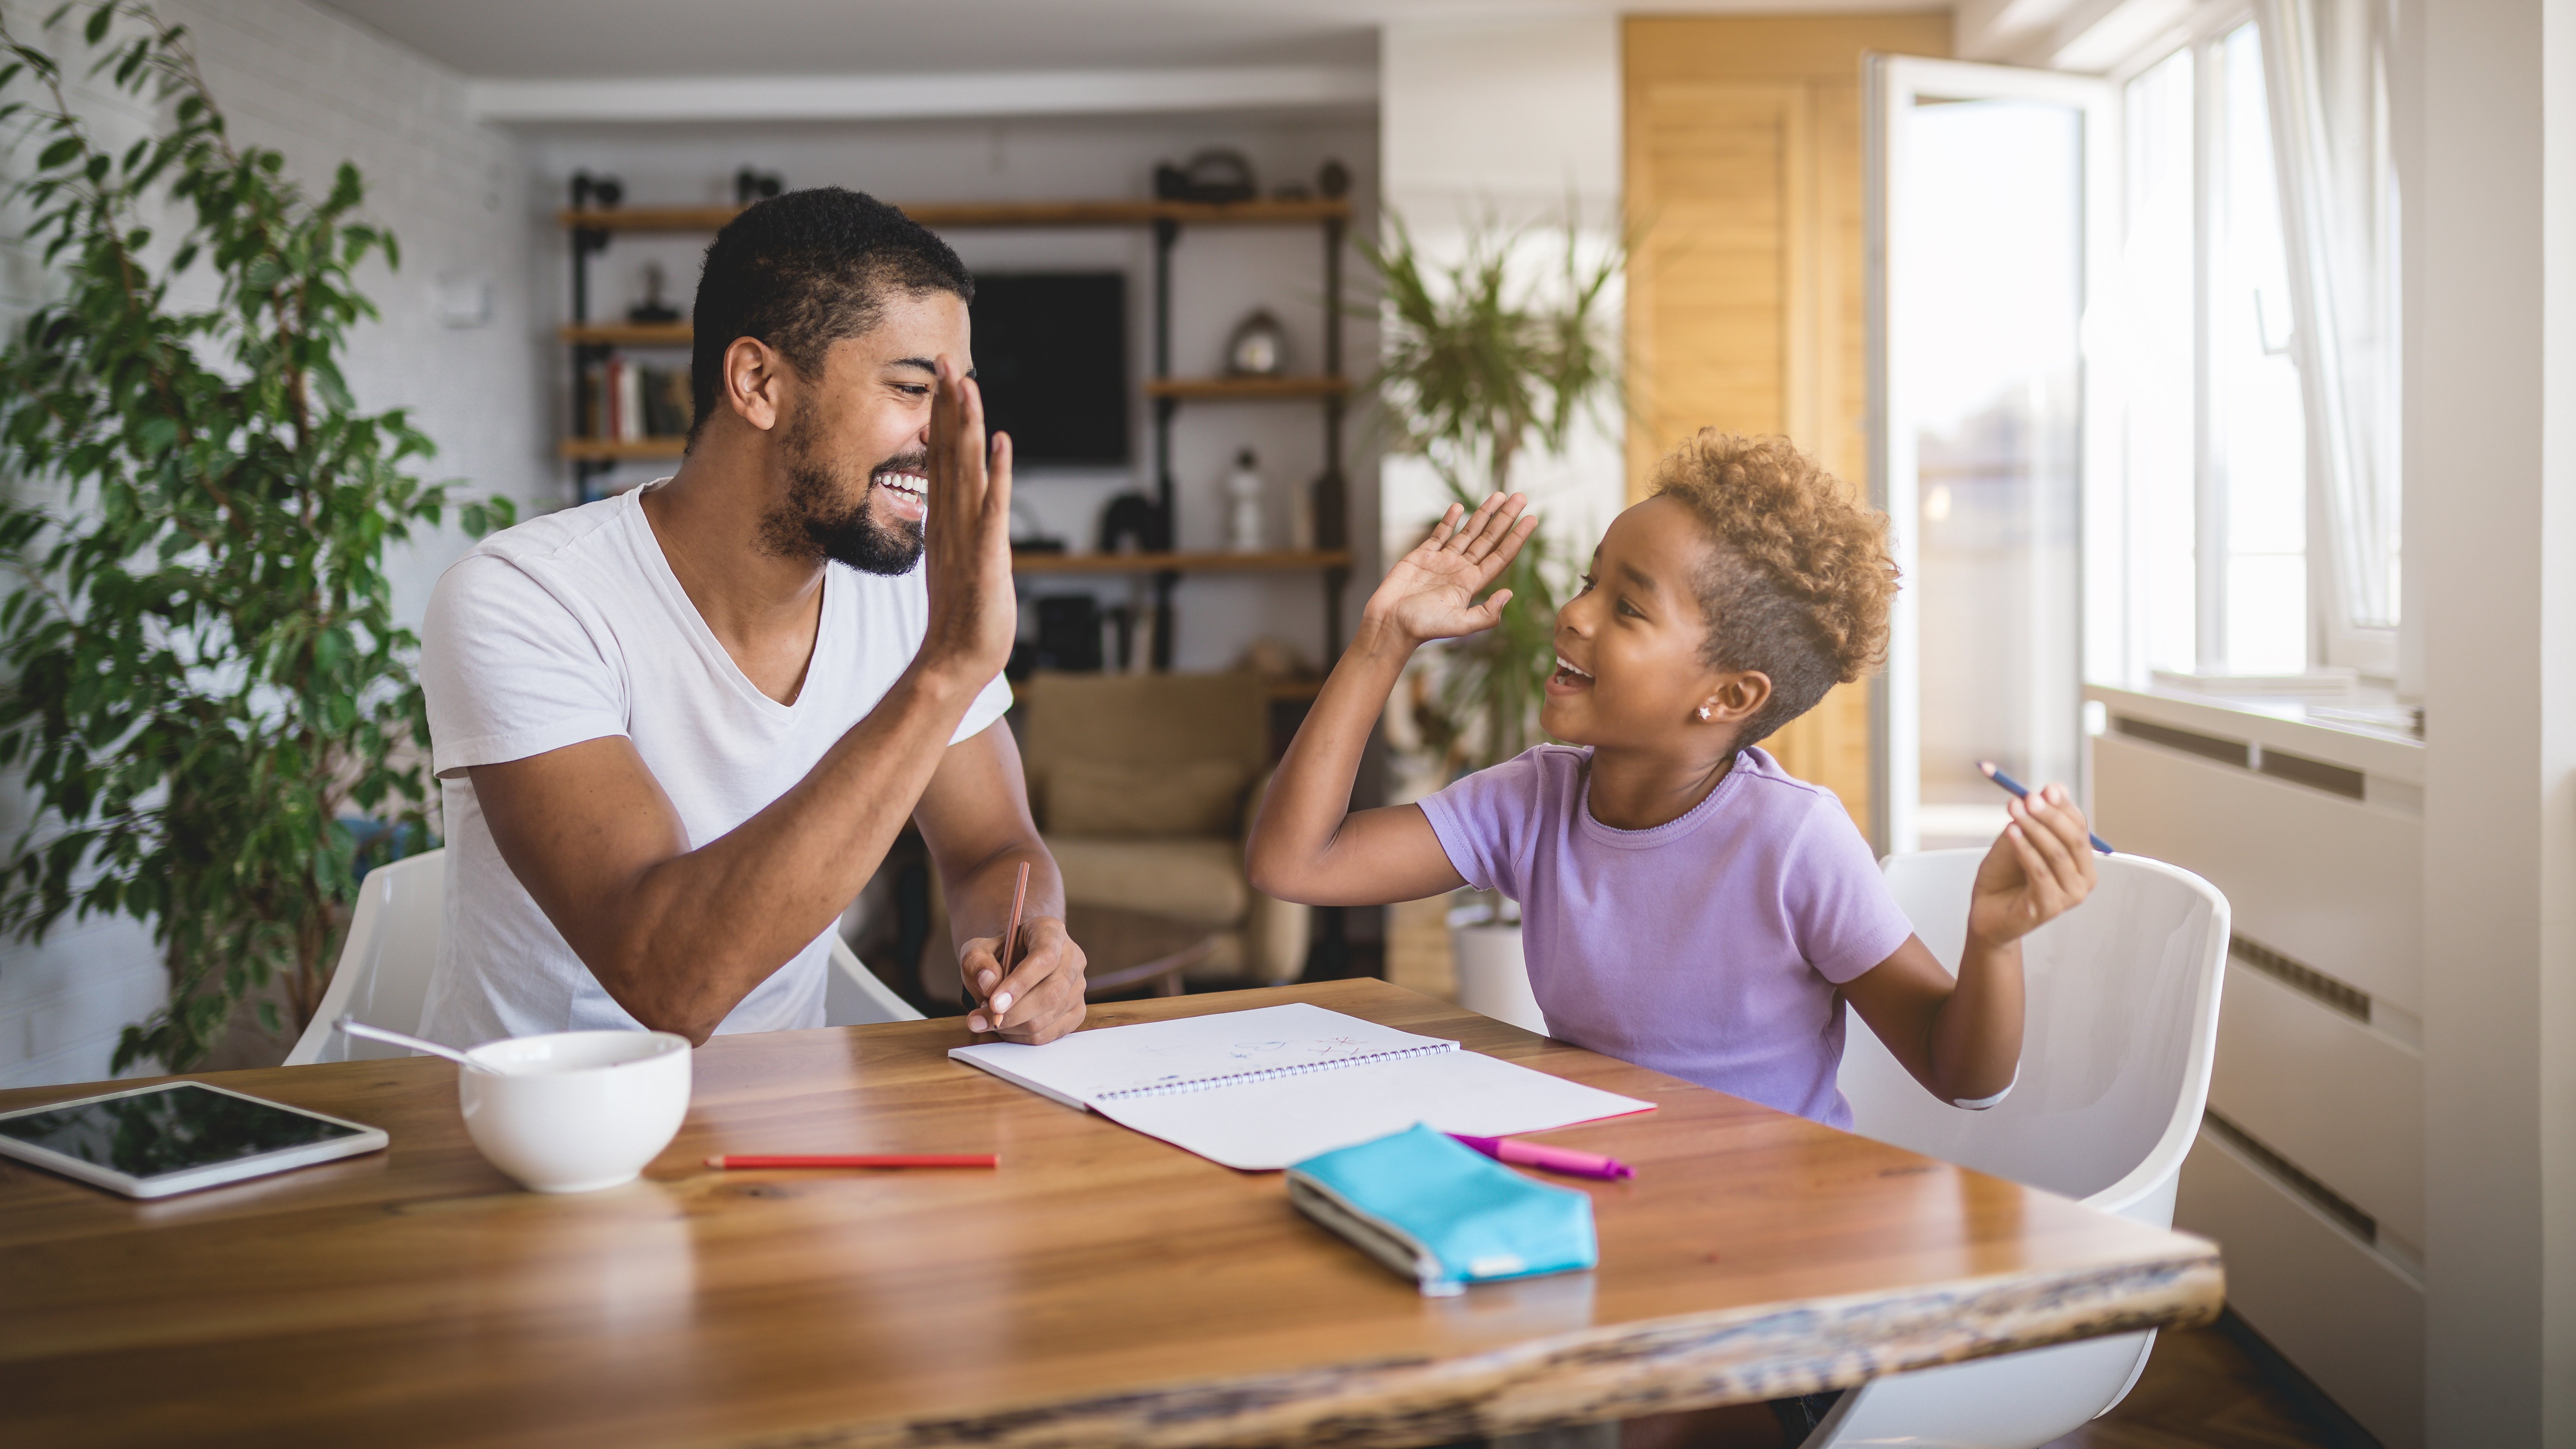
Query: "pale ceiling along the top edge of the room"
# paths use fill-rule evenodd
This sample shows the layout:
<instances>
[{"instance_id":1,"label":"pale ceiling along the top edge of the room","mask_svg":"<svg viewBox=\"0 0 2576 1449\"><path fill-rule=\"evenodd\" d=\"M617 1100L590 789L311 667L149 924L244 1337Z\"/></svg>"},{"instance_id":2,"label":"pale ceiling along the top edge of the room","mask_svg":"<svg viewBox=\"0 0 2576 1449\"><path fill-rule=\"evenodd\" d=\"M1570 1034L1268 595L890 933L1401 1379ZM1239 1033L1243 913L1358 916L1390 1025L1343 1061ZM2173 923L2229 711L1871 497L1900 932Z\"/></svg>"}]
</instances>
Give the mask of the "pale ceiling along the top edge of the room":
<instances>
[{"instance_id":1,"label":"pale ceiling along the top edge of the room","mask_svg":"<svg viewBox=\"0 0 2576 1449\"><path fill-rule=\"evenodd\" d=\"M1386 21L1852 0L319 0L471 77L1373 64Z\"/></svg>"}]
</instances>

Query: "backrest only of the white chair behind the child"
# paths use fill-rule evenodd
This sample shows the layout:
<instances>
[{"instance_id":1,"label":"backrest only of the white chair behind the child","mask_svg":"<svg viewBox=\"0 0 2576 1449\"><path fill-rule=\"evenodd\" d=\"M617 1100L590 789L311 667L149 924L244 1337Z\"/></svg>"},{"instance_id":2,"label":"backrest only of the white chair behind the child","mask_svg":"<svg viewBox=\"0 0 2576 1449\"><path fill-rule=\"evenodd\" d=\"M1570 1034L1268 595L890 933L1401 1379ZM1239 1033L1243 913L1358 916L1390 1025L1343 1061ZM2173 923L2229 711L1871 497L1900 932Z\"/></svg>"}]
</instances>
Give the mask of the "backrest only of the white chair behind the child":
<instances>
[{"instance_id":1,"label":"backrest only of the white chair behind the child","mask_svg":"<svg viewBox=\"0 0 2576 1449\"><path fill-rule=\"evenodd\" d=\"M1883 871L1942 967L1958 972L1984 851L1888 856ZM1852 1018L1842 1096L1852 1129L2105 1212L2146 1207L2182 1171L2210 1096L2228 897L2177 866L2099 861L2092 897L2022 941L2022 1075L2002 1104L1935 1101ZM2133 1214L2136 1217L2136 1214Z\"/></svg>"}]
</instances>

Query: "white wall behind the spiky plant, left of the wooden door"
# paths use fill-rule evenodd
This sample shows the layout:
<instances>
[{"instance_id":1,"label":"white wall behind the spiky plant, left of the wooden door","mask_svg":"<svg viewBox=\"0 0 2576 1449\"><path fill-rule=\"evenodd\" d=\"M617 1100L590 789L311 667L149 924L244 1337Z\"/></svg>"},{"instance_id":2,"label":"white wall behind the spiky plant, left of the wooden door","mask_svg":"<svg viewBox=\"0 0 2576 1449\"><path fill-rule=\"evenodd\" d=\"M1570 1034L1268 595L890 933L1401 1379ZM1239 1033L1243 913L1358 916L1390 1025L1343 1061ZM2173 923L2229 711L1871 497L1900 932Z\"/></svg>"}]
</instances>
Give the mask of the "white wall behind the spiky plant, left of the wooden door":
<instances>
[{"instance_id":1,"label":"white wall behind the spiky plant, left of the wooden door","mask_svg":"<svg viewBox=\"0 0 2576 1449\"><path fill-rule=\"evenodd\" d=\"M1386 206L1435 258L1455 255L1486 222L1530 227L1520 245L1535 276L1564 255L1571 206L1582 245L1620 229L1618 15L1440 21L1386 26L1378 124ZM1610 299L1618 322L1618 297ZM1528 459L1512 477L1551 536L1592 552L1625 498L1625 428L1584 428L1561 459ZM1412 547L1448 503L1417 459L1383 464L1391 552Z\"/></svg>"}]
</instances>

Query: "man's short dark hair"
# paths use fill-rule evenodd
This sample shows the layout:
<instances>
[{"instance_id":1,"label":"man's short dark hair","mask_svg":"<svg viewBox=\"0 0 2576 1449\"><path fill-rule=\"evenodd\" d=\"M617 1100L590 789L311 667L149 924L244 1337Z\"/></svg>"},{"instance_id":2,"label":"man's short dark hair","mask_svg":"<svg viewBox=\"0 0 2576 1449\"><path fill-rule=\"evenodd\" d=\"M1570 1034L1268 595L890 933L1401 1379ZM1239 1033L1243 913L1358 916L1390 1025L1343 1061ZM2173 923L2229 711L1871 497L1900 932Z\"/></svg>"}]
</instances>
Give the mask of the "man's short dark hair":
<instances>
[{"instance_id":1,"label":"man's short dark hair","mask_svg":"<svg viewBox=\"0 0 2576 1449\"><path fill-rule=\"evenodd\" d=\"M974 302L974 276L933 229L840 186L770 196L726 222L706 248L690 309L690 441L724 397L734 338L757 338L796 371L822 376L832 343L884 320L889 291Z\"/></svg>"}]
</instances>

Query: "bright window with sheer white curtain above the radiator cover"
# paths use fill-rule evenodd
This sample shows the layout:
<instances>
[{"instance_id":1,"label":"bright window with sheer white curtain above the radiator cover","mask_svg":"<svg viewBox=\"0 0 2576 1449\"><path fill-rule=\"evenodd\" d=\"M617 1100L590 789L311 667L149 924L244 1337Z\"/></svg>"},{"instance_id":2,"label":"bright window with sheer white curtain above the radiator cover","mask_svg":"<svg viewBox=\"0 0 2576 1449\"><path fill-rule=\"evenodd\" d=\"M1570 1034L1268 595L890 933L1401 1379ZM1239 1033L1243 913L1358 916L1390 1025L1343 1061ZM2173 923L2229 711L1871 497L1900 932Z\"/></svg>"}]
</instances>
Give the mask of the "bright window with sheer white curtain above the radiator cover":
<instances>
[{"instance_id":1,"label":"bright window with sheer white curtain above the radiator cover","mask_svg":"<svg viewBox=\"0 0 2576 1449\"><path fill-rule=\"evenodd\" d=\"M2375 10L2275 0L2264 18L2210 26L2123 85L2120 276L2094 348L2125 503L2128 627L2089 660L2110 683L2396 663Z\"/></svg>"}]
</instances>

